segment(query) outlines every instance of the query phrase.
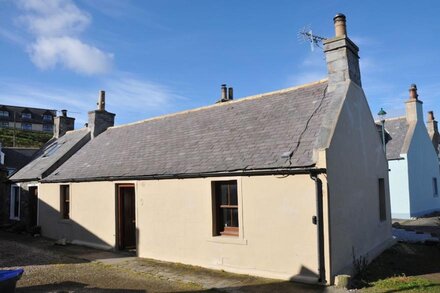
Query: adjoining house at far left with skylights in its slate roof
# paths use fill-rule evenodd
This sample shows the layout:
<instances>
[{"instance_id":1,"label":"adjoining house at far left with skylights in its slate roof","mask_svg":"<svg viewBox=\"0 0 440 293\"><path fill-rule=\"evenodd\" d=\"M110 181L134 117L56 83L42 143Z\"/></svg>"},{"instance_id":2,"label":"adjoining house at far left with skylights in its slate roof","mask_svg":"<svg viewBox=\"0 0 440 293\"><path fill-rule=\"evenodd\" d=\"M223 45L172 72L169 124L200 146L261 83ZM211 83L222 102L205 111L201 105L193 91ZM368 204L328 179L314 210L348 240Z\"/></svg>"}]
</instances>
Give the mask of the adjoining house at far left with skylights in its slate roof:
<instances>
[{"instance_id":1,"label":"adjoining house at far left with skylights in its slate roof","mask_svg":"<svg viewBox=\"0 0 440 293\"><path fill-rule=\"evenodd\" d=\"M101 91L100 108L89 112L87 127L74 130L75 118L68 117L67 111L55 117L54 136L34 155L33 160L10 178L9 196L6 197L9 222L24 224L31 229L38 223L39 182L62 165L91 138L114 125L114 114L103 107L104 91Z\"/></svg>"}]
</instances>

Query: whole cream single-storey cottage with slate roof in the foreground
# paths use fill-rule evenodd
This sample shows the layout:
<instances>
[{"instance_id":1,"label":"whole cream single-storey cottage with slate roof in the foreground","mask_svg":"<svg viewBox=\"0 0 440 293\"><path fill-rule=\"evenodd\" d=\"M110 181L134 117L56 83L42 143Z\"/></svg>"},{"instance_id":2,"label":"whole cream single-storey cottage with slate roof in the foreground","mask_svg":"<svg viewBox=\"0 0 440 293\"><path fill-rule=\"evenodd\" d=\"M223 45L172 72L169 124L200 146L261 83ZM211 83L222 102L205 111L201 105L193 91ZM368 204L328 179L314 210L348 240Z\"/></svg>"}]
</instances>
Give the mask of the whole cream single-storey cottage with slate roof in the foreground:
<instances>
[{"instance_id":1,"label":"whole cream single-storey cottage with slate roof in the foreground","mask_svg":"<svg viewBox=\"0 0 440 293\"><path fill-rule=\"evenodd\" d=\"M44 236L331 284L392 242L388 166L345 16L328 79L110 127L40 184Z\"/></svg>"}]
</instances>

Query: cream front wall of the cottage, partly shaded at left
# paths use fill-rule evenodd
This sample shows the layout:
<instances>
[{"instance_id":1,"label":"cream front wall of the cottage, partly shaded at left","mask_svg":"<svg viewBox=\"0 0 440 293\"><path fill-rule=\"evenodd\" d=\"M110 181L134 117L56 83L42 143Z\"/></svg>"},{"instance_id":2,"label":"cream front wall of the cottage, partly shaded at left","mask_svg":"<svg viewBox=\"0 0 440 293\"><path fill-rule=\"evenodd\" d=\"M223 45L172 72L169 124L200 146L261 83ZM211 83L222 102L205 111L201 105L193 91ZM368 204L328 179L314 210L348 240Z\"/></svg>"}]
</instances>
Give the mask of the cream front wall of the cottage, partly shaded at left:
<instances>
[{"instance_id":1,"label":"cream front wall of the cottage, partly shaded at left","mask_svg":"<svg viewBox=\"0 0 440 293\"><path fill-rule=\"evenodd\" d=\"M211 182L237 180L239 237L213 236ZM316 282L315 183L308 175L136 181L138 255L225 271ZM114 247L116 182L71 183L71 219L60 184L40 184L44 236ZM325 180L324 180L324 184Z\"/></svg>"}]
</instances>

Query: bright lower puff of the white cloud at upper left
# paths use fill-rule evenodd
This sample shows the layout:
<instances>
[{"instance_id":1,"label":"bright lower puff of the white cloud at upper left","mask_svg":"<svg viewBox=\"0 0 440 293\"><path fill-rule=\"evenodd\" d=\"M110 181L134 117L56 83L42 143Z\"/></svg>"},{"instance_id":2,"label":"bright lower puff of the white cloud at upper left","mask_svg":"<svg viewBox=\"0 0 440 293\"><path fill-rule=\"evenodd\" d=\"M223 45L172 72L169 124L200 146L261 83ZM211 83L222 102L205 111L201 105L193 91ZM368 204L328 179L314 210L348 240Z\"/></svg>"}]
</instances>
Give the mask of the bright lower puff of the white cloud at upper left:
<instances>
[{"instance_id":1,"label":"bright lower puff of the white cloud at upper left","mask_svg":"<svg viewBox=\"0 0 440 293\"><path fill-rule=\"evenodd\" d=\"M30 46L32 62L41 69L62 65L78 73L108 72L113 56L71 37L40 38Z\"/></svg>"}]
</instances>

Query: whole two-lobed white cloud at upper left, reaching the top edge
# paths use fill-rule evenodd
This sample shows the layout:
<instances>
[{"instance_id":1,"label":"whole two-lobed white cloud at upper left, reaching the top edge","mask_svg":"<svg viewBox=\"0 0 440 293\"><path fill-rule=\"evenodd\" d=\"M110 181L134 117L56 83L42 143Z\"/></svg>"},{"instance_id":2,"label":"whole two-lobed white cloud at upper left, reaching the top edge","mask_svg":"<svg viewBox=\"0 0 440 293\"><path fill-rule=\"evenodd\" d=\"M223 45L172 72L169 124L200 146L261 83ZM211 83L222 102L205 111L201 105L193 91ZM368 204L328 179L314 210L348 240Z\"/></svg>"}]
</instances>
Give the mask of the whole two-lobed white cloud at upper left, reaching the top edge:
<instances>
[{"instance_id":1,"label":"whole two-lobed white cloud at upper left, reaching the top edge","mask_svg":"<svg viewBox=\"0 0 440 293\"><path fill-rule=\"evenodd\" d=\"M88 13L71 0L20 0L24 23L35 40L29 45L31 61L40 69L62 66L82 74L111 69L113 55L84 43L79 34L91 23Z\"/></svg>"}]
</instances>

